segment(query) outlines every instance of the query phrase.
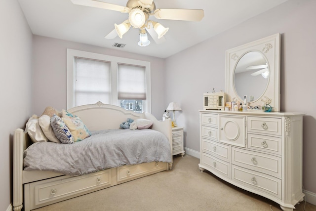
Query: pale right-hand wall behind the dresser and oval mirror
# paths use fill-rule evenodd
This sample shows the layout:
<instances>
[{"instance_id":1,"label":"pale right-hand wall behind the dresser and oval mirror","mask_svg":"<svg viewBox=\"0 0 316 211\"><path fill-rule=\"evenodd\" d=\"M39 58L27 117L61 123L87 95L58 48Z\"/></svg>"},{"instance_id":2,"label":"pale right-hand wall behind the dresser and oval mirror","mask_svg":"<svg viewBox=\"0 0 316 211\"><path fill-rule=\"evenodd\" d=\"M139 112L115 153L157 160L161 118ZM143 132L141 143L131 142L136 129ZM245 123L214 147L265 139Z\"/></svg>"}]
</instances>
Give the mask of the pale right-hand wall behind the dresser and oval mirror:
<instances>
[{"instance_id":1,"label":"pale right-hand wall behind the dresser and oval mirror","mask_svg":"<svg viewBox=\"0 0 316 211\"><path fill-rule=\"evenodd\" d=\"M303 185L316 193L316 1L289 0L236 27L166 59L166 102L176 101L185 147L199 151L198 110L202 93L224 90L225 51L281 33L281 111L303 118ZM174 80L177 79L178 80Z\"/></svg>"}]
</instances>

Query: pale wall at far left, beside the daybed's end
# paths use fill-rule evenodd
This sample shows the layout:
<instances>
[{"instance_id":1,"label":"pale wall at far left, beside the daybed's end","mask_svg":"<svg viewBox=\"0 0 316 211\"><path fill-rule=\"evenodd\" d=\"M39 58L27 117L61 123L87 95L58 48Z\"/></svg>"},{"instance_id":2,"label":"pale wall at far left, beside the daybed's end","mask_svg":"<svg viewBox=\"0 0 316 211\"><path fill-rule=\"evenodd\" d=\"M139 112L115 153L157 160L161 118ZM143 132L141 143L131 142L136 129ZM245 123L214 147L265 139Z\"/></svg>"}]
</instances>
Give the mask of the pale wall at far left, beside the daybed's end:
<instances>
[{"instance_id":1,"label":"pale wall at far left, beside the daybed's end","mask_svg":"<svg viewBox=\"0 0 316 211\"><path fill-rule=\"evenodd\" d=\"M32 33L17 0L0 1L0 210L12 202L13 131L32 109Z\"/></svg>"}]
</instances>

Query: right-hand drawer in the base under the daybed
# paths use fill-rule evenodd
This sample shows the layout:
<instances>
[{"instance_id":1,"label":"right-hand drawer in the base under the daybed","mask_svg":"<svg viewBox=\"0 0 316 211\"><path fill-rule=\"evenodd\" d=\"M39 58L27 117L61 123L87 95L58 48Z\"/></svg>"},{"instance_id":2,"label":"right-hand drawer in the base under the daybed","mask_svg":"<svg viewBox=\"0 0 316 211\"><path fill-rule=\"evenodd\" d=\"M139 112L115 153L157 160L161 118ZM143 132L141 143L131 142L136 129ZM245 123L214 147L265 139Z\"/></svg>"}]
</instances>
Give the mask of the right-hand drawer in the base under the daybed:
<instances>
[{"instance_id":1,"label":"right-hand drawer in the base under the daybed","mask_svg":"<svg viewBox=\"0 0 316 211\"><path fill-rule=\"evenodd\" d=\"M128 181L135 177L145 176L148 173L161 171L166 169L166 164L163 162L151 162L138 165L121 166L117 168L118 182Z\"/></svg>"}]
</instances>

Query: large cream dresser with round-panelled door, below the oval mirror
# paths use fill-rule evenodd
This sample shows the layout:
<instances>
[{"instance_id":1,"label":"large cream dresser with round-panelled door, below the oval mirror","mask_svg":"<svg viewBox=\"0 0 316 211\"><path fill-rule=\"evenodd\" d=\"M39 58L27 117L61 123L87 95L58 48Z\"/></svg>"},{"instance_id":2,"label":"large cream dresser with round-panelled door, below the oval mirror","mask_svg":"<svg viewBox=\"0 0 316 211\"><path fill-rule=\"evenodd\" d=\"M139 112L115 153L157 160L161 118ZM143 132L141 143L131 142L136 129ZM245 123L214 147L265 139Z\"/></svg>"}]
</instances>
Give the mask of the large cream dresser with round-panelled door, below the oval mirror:
<instances>
[{"instance_id":1,"label":"large cream dresser with round-panelled door, below the oval mirror","mask_svg":"<svg viewBox=\"0 0 316 211\"><path fill-rule=\"evenodd\" d=\"M201 110L200 164L292 211L303 201L303 113Z\"/></svg>"}]
</instances>

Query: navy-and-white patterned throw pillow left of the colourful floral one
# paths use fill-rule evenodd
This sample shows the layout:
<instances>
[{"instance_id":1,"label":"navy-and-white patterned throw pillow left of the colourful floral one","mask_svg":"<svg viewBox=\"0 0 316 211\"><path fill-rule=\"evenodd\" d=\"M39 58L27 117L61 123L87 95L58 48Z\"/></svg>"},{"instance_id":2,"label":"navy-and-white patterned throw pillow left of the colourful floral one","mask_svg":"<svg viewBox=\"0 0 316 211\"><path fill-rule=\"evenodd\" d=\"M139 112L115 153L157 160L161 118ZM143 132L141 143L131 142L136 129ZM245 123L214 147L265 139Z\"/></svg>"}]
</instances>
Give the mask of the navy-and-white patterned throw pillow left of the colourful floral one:
<instances>
[{"instance_id":1,"label":"navy-and-white patterned throw pillow left of the colourful floral one","mask_svg":"<svg viewBox=\"0 0 316 211\"><path fill-rule=\"evenodd\" d=\"M69 128L66 126L64 121L60 117L58 117L56 114L54 114L50 118L50 125L53 128L56 137L60 140L61 143L63 144L75 143L74 137L71 134Z\"/></svg>"}]
</instances>

